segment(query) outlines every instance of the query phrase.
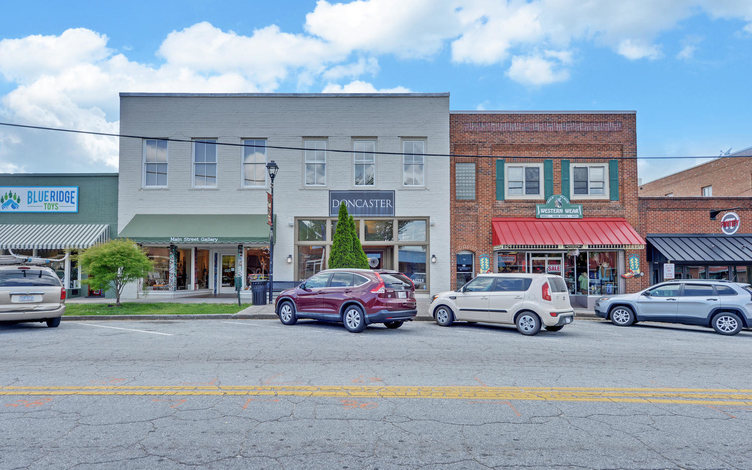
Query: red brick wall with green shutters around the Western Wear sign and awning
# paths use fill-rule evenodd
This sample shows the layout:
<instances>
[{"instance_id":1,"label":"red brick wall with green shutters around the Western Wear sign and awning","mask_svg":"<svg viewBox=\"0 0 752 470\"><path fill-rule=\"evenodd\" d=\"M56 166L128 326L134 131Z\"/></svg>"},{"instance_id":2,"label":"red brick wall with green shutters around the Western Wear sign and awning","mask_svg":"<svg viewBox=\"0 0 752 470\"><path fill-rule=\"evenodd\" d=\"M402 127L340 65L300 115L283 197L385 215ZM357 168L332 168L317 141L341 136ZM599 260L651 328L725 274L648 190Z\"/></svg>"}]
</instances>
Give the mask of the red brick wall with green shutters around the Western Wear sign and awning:
<instances>
[{"instance_id":1,"label":"red brick wall with green shutters around the Western Wear sign and awning","mask_svg":"<svg viewBox=\"0 0 752 470\"><path fill-rule=\"evenodd\" d=\"M475 273L481 270L479 256L490 255L490 268L495 271L493 218L526 217L535 220L535 205L544 204L544 196L548 196L549 192L565 196L569 193L572 204L583 206L582 213L586 219L617 218L626 220L635 229L638 227L634 112L452 111L450 147L456 155L450 159L450 279L453 288L457 287L456 254L463 250L472 252ZM499 162L501 160L503 163ZM569 166L563 187L562 161L565 168ZM457 163L475 163L475 199L456 198ZM510 165L517 163L541 168L538 196L512 196L512 190L504 186L502 175L507 174L505 171L516 170L517 167L511 168ZM616 177L611 170L617 169L618 177L608 183L608 188L610 190L617 183L618 194L609 195L607 190L604 196L591 196L590 199L574 196L571 191L573 186L567 187L572 184L572 170L585 163L601 163L609 169L608 177ZM513 184L511 180L507 183ZM523 181L523 185L527 184ZM639 256L641 266L646 262L644 249L631 247L620 251L620 273L626 271L625 263L630 254ZM566 263L566 253L563 256ZM619 278L620 290L626 293L647 287L647 276ZM571 284L572 280L569 282Z\"/></svg>"}]
</instances>

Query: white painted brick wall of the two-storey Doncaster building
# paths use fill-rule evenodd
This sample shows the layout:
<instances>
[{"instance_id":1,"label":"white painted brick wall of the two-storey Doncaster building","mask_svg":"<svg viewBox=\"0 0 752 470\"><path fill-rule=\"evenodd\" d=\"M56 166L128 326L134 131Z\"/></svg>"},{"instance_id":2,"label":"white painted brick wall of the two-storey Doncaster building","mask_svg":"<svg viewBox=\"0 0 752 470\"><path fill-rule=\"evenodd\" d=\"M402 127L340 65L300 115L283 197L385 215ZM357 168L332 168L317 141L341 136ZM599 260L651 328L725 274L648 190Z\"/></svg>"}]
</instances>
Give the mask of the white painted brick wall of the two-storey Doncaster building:
<instances>
[{"instance_id":1,"label":"white painted brick wall of the two-storey Doncaster building","mask_svg":"<svg viewBox=\"0 0 752 470\"><path fill-rule=\"evenodd\" d=\"M241 144L265 138L267 145L303 147L305 138L326 138L328 149L351 150L353 138L375 138L376 150L402 152L403 138L425 138L426 153L449 153L449 96L206 96L138 95L120 98L120 133L153 138L216 138ZM145 189L142 141L120 139L118 232L135 214L265 214L266 189L241 188L241 147L217 146L217 189L191 188L191 144L169 143L168 189ZM302 150L268 149L280 166L274 180L274 277L294 279L294 217L328 216L329 190L353 185L352 153L327 152L327 186L304 185ZM426 187L402 186L402 155L376 156L373 190L396 191L397 217L430 217L431 292L449 289L449 162L426 157Z\"/></svg>"}]
</instances>

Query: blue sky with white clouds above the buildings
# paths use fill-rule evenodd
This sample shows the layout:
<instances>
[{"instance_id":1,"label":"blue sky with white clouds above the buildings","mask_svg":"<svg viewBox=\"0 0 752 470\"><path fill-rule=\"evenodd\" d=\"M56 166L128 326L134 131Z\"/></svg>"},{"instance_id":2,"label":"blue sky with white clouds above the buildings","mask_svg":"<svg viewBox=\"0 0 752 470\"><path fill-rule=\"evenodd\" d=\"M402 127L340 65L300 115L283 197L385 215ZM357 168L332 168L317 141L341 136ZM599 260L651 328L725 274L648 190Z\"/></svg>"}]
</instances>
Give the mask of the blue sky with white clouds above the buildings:
<instances>
[{"instance_id":1,"label":"blue sky with white clouds above the buildings","mask_svg":"<svg viewBox=\"0 0 752 470\"><path fill-rule=\"evenodd\" d=\"M643 182L752 146L750 77L752 0L29 0L0 17L2 123L117 133L119 92L450 92L453 111L636 111ZM117 171L117 151L0 126L0 173Z\"/></svg>"}]
</instances>

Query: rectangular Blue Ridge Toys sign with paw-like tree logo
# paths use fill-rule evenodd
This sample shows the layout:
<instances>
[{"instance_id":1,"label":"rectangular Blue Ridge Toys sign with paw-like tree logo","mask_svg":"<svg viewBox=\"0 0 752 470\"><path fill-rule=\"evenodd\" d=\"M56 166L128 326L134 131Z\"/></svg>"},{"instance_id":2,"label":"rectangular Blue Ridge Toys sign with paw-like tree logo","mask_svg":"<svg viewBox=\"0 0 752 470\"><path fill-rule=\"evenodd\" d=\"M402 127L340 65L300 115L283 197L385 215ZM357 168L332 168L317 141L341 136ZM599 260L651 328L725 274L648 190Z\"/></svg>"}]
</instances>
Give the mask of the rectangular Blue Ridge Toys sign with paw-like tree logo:
<instances>
[{"instance_id":1,"label":"rectangular Blue Ridge Toys sign with paw-like tree logo","mask_svg":"<svg viewBox=\"0 0 752 470\"><path fill-rule=\"evenodd\" d=\"M78 186L0 186L3 212L78 212Z\"/></svg>"}]
</instances>

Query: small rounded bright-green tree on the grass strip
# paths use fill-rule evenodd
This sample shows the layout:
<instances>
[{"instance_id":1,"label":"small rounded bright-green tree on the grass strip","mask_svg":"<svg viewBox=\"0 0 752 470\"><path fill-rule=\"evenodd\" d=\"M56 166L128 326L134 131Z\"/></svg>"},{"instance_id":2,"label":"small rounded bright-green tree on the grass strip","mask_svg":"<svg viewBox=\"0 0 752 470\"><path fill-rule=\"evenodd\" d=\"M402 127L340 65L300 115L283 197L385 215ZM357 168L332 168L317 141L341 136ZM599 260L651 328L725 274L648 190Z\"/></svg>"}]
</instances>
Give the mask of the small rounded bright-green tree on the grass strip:
<instances>
[{"instance_id":1,"label":"small rounded bright-green tree on the grass strip","mask_svg":"<svg viewBox=\"0 0 752 470\"><path fill-rule=\"evenodd\" d=\"M111 240L94 245L78 255L83 272L89 274L86 284L95 289L115 292L115 305L120 305L123 287L142 277L147 277L154 263L130 240Z\"/></svg>"}]
</instances>

